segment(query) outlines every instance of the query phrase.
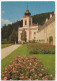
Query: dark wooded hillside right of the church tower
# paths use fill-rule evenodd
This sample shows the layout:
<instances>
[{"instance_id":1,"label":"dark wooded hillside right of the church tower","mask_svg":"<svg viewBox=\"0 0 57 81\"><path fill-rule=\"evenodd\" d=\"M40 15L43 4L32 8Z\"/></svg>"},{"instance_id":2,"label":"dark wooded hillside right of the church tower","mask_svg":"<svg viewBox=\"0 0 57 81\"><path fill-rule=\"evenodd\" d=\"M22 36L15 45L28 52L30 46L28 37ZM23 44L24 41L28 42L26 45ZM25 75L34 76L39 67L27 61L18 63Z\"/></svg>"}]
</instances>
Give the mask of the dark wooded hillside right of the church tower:
<instances>
[{"instance_id":1,"label":"dark wooded hillside right of the church tower","mask_svg":"<svg viewBox=\"0 0 57 81\"><path fill-rule=\"evenodd\" d=\"M38 25L43 25L45 23L46 18L48 18L48 19L50 18L50 14L53 15L53 12L33 15L32 21L33 21L34 24L38 23Z\"/></svg>"}]
</instances>

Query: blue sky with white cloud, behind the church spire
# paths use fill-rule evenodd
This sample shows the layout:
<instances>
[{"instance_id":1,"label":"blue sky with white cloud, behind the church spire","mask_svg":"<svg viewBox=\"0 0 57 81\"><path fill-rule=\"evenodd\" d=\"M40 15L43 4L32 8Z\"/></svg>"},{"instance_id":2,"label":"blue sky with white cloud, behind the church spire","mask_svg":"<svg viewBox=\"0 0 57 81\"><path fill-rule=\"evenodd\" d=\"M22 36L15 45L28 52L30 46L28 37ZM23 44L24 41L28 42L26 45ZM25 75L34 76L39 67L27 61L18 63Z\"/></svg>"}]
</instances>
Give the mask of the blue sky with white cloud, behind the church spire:
<instances>
[{"instance_id":1,"label":"blue sky with white cloud, behind the church spire","mask_svg":"<svg viewBox=\"0 0 57 81\"><path fill-rule=\"evenodd\" d=\"M1 22L4 24L11 24L17 20L21 20L27 9L27 2L1 2ZM31 15L41 14L45 12L52 12L55 10L54 1L30 1L28 2L28 9Z\"/></svg>"}]
</instances>

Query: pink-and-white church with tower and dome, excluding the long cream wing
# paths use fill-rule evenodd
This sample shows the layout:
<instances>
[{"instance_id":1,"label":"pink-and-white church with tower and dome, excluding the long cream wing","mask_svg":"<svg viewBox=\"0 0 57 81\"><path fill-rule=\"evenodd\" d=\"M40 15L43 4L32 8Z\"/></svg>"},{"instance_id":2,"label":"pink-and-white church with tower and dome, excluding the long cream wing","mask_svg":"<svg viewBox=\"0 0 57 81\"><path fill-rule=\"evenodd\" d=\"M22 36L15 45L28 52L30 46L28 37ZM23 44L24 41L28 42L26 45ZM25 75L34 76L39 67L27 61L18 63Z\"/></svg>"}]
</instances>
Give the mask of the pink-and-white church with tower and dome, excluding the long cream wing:
<instances>
[{"instance_id":1,"label":"pink-and-white church with tower and dome, excluding the long cream wing","mask_svg":"<svg viewBox=\"0 0 57 81\"><path fill-rule=\"evenodd\" d=\"M25 29L26 31L26 42L37 40L36 35L38 31L38 25L34 25L34 26L32 25L32 17L31 17L31 13L28 10L28 7L23 17L23 27L19 27L19 30L18 30L19 42L22 42L21 34L23 29Z\"/></svg>"}]
</instances>

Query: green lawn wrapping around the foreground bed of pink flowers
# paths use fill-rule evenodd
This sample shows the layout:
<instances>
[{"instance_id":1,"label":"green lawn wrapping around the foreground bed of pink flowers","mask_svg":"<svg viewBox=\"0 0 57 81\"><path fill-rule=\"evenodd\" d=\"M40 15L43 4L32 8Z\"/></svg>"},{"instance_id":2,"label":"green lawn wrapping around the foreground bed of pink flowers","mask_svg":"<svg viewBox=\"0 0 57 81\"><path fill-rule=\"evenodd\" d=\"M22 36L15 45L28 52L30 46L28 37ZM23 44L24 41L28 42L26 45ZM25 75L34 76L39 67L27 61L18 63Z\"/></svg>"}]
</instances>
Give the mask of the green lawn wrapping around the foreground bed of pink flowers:
<instances>
[{"instance_id":1,"label":"green lawn wrapping around the foreground bed of pink flowers","mask_svg":"<svg viewBox=\"0 0 57 81\"><path fill-rule=\"evenodd\" d=\"M4 58L1 61L2 64L1 69L3 69L5 66L8 66L10 64L10 61L12 61L15 56L26 56L26 55L27 56L34 55L40 58L44 66L48 68L49 74L53 74L53 76L55 76L55 55L54 54L29 54L29 51L25 46L20 46L15 51L13 51L10 55Z\"/></svg>"}]
</instances>

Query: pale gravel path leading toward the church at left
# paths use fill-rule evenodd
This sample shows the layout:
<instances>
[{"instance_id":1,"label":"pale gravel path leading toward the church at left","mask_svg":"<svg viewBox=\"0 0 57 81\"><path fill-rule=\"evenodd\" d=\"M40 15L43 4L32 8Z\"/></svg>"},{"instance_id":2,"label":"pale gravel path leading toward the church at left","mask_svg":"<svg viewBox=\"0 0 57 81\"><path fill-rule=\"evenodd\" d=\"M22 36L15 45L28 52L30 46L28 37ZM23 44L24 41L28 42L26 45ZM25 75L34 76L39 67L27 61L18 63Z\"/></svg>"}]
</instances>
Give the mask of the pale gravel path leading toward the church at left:
<instances>
[{"instance_id":1,"label":"pale gravel path leading toward the church at left","mask_svg":"<svg viewBox=\"0 0 57 81\"><path fill-rule=\"evenodd\" d=\"M1 49L1 59L3 59L6 56L8 56L11 52L13 52L19 46L21 46L21 45L16 44L16 45L12 45L12 46L9 46L9 47Z\"/></svg>"}]
</instances>

